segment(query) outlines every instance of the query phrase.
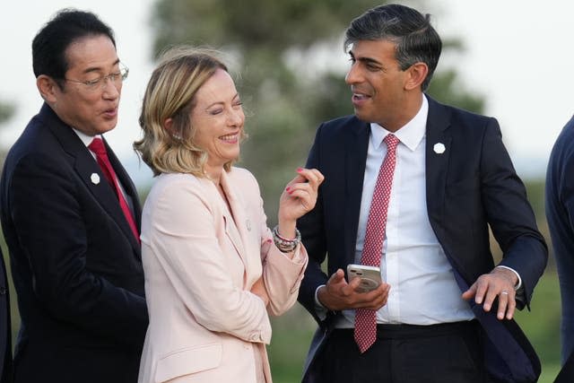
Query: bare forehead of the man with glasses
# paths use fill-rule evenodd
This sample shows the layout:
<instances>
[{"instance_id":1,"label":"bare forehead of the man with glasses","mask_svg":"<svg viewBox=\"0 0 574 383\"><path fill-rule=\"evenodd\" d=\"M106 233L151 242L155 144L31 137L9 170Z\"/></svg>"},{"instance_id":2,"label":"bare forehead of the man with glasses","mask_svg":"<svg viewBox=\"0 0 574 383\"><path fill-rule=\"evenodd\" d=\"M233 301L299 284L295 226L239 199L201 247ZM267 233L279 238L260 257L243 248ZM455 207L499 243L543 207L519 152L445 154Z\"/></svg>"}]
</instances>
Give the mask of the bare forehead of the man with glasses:
<instances>
[{"instance_id":1,"label":"bare forehead of the man with glasses","mask_svg":"<svg viewBox=\"0 0 574 383\"><path fill-rule=\"evenodd\" d=\"M68 71L105 71L118 62L116 47L106 35L76 39L65 49Z\"/></svg>"}]
</instances>

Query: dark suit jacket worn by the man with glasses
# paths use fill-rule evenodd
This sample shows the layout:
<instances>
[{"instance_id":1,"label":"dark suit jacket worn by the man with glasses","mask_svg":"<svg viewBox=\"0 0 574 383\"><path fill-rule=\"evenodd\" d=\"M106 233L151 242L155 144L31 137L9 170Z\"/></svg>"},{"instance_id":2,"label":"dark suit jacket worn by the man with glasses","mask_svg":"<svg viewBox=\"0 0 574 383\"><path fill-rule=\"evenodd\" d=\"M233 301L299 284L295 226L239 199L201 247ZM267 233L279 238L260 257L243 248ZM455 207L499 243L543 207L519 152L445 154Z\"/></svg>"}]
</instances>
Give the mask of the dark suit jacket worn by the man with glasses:
<instances>
[{"instance_id":1,"label":"dark suit jacket worn by the man with glasses","mask_svg":"<svg viewBox=\"0 0 574 383\"><path fill-rule=\"evenodd\" d=\"M139 227L135 187L107 149ZM22 318L16 382L137 379L148 320L141 250L105 179L46 104L8 153L0 204Z\"/></svg>"}]
</instances>

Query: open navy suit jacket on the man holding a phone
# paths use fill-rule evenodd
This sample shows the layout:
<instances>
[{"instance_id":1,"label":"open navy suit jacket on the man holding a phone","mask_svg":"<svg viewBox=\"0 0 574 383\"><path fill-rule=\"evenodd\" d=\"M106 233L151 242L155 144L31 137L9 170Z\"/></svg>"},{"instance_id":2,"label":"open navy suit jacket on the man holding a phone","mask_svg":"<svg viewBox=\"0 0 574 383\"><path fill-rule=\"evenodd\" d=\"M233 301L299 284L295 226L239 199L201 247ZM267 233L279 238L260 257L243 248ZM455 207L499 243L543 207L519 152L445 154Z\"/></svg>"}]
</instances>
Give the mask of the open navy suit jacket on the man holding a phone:
<instances>
[{"instance_id":1,"label":"open navy suit jacket on the man holding a phone","mask_svg":"<svg viewBox=\"0 0 574 383\"><path fill-rule=\"evenodd\" d=\"M426 201L431 227L453 266L462 291L494 267L488 225L504 252L501 265L517 271L525 288L526 304L544 271L547 249L536 229L535 215L526 200L500 139L494 118L485 118L429 99L426 131ZM313 382L321 345L332 318L315 313L315 291L328 275L352 263L361 206L370 124L354 116L318 127L307 166L325 175L315 209L298 222L309 265L300 287L301 304L317 319L319 329L311 344L304 381ZM433 151L442 143L446 151ZM327 274L321 264L328 254ZM485 314L472 303L483 325L485 355L492 379L534 382L540 363L514 321L499 321L495 310ZM498 338L498 339L497 339ZM494 342L494 343L493 343Z\"/></svg>"}]
</instances>

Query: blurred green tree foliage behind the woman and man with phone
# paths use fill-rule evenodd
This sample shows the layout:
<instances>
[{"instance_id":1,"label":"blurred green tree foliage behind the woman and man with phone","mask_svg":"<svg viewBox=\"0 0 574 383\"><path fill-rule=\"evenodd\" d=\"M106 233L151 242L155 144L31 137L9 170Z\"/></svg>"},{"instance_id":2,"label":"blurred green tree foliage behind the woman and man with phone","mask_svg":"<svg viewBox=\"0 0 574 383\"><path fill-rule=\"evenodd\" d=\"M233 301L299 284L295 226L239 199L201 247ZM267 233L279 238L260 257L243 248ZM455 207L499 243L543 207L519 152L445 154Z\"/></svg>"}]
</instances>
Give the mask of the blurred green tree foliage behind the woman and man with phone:
<instances>
[{"instance_id":1,"label":"blurred green tree foliage behind the woman and man with phone","mask_svg":"<svg viewBox=\"0 0 574 383\"><path fill-rule=\"evenodd\" d=\"M306 161L317 124L352 113L344 74L319 70L313 52L329 44L334 55L343 55L342 35L349 22L378 4L369 0L159 0L154 6L156 54L173 45L191 44L220 48L233 57L249 112L249 139L242 146L240 166L259 180L271 224L282 188ZM456 48L457 41L447 46ZM286 59L293 53L303 57L296 65ZM480 98L457 83L453 71L435 74L431 84L431 94L439 100L477 112L483 108Z\"/></svg>"}]
</instances>

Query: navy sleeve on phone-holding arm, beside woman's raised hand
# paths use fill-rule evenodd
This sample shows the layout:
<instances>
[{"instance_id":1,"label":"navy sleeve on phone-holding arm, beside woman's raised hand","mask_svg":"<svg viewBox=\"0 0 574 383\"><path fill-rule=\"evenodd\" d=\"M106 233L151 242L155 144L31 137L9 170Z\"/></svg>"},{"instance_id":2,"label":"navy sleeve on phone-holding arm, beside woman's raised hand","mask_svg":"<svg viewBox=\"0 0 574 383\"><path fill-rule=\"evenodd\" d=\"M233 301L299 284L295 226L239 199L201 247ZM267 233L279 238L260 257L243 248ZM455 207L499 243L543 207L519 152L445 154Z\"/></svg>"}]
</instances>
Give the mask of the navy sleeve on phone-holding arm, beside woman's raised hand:
<instances>
[{"instance_id":1,"label":"navy sleeve on phone-holding arm, beside woman's raised hand","mask_svg":"<svg viewBox=\"0 0 574 383\"><path fill-rule=\"evenodd\" d=\"M321 170L321 127L322 126L318 127L315 142L309 151L309 158L306 165L308 169L315 168ZM309 254L309 265L307 266L305 277L301 283L299 301L318 323L321 323L322 319L317 316L317 311L315 309L315 292L317 291L318 286L326 284L326 281L328 280L328 275L321 269L321 265L326 258L323 188L328 186L328 182L329 179L325 178L325 181L319 187L315 208L302 216L297 222L301 232L302 242L305 245L305 248L307 248L307 252Z\"/></svg>"}]
</instances>

